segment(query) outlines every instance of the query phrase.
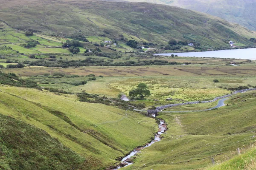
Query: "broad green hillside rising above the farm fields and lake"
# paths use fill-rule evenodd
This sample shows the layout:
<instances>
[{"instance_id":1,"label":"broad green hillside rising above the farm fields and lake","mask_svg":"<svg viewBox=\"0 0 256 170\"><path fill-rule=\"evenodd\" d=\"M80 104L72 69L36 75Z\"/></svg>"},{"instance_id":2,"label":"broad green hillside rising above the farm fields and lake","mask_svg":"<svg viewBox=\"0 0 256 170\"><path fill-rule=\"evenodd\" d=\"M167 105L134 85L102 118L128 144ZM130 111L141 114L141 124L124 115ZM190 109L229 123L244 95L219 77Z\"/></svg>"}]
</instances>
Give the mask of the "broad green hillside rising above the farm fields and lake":
<instances>
[{"instance_id":1,"label":"broad green hillside rising above the farm fields and lake","mask_svg":"<svg viewBox=\"0 0 256 170\"><path fill-rule=\"evenodd\" d=\"M173 6L89 0L12 0L0 7L9 26L61 36L121 37L166 44L170 39L196 41L206 47L252 45L256 33L218 17Z\"/></svg>"}]
</instances>

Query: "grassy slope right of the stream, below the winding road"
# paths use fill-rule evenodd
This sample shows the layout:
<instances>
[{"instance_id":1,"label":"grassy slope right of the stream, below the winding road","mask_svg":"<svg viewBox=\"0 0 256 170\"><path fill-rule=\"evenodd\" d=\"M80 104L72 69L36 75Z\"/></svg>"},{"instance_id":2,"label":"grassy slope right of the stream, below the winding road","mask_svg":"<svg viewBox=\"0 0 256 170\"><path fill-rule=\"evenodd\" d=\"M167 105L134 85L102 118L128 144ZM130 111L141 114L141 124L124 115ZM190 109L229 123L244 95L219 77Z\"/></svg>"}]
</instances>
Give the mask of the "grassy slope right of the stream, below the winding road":
<instances>
[{"instance_id":1,"label":"grassy slope right of the stream, below the winding road","mask_svg":"<svg viewBox=\"0 0 256 170\"><path fill-rule=\"evenodd\" d=\"M203 169L211 164L217 169L243 169L253 167L253 152L243 159L236 149L245 152L255 139L255 91L237 94L227 100L229 106L214 111L197 113L160 113L169 130L161 142L147 147L136 156L135 163L125 170L189 170ZM246 155L247 153L245 153ZM228 161L231 159L230 161ZM248 161L247 161L248 160ZM251 166L252 165L252 166ZM230 168L229 168L230 167ZM211 167L209 167L211 169Z\"/></svg>"}]
</instances>

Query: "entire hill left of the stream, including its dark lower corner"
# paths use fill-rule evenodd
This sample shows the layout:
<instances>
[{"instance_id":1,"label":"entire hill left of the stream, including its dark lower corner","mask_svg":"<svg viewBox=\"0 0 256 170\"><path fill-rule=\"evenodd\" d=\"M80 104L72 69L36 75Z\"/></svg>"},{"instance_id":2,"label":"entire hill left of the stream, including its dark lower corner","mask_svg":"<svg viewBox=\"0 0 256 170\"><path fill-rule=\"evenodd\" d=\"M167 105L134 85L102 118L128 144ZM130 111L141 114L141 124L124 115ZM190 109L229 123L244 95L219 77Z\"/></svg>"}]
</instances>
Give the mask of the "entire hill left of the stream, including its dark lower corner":
<instances>
[{"instance_id":1,"label":"entire hill left of the stream, including its dark lower corner","mask_svg":"<svg viewBox=\"0 0 256 170\"><path fill-rule=\"evenodd\" d=\"M154 119L75 95L0 85L0 96L0 165L7 170L102 169L157 131Z\"/></svg>"}]
</instances>

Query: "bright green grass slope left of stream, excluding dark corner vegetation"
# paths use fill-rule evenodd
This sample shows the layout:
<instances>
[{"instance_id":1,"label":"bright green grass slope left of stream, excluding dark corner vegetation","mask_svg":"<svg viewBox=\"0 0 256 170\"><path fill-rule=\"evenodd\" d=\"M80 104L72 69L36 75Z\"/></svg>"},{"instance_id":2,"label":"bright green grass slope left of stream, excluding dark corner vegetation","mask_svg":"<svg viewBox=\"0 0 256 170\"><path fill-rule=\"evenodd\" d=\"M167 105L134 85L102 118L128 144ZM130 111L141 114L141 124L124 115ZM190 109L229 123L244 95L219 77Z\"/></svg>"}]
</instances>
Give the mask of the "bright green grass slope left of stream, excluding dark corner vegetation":
<instances>
[{"instance_id":1,"label":"bright green grass slope left of stream, excluding dark corner vegetation","mask_svg":"<svg viewBox=\"0 0 256 170\"><path fill-rule=\"evenodd\" d=\"M151 137L157 131L157 124L154 119L142 116L139 113L126 112L113 106L79 102L74 95L60 95L39 91L38 89L2 85L0 96L1 114L12 116L17 120L40 128L49 133L51 137L58 139L64 148L60 148L56 152L60 152L60 154L70 152L70 154L67 153L70 159L79 158L74 160L73 164L82 164L82 169L85 170L101 169L113 165L120 156L151 141ZM3 130L6 130L6 128L4 127ZM19 132L17 131L17 133ZM26 132L24 133L26 135ZM23 135L23 133L20 135ZM54 139L50 139L49 135L43 133L43 136L47 136L47 140L50 141L48 145L44 143L41 148L31 148L31 152L59 144L58 142L52 142ZM32 136L28 137L32 139ZM40 138L41 136L38 136L38 138L32 139L32 142L41 140ZM1 147L8 146L8 141L1 145ZM16 162L17 150L23 150L24 147L30 149L30 144L24 144L20 146L20 149L16 148L16 153L15 148L13 148L14 150L10 148L13 153L0 157L0 161L5 162L5 164ZM73 152L68 150L67 147ZM4 150L4 153L7 151ZM44 152L47 152L47 150L42 151L42 154L47 154ZM45 155L44 159L50 159L51 154ZM24 156L21 155L22 159L28 160L24 164L26 167L33 169L35 165L29 157L26 158L26 155L32 156L30 153L24 153ZM56 167L68 169L65 167L70 166L70 164L67 164L65 160L66 158L61 159L60 161L63 162L59 162L59 165L56 163ZM38 166L44 167L47 165L42 163ZM79 168L74 167L74 169Z\"/></svg>"}]
</instances>

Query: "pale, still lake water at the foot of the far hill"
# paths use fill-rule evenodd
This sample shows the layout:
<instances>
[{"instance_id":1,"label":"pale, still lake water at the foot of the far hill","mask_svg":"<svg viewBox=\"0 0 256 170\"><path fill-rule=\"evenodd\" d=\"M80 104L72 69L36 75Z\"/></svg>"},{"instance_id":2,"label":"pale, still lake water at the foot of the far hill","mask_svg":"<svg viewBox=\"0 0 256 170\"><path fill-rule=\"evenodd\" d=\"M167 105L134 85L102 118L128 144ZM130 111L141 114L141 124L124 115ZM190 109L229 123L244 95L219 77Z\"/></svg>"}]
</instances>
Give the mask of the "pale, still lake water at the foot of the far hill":
<instances>
[{"instance_id":1,"label":"pale, still lake water at the foot of the far hill","mask_svg":"<svg viewBox=\"0 0 256 170\"><path fill-rule=\"evenodd\" d=\"M179 57L216 57L216 58L235 58L235 59L256 59L256 48L205 51L205 52L189 52L189 53L164 53L164 54L155 54L155 55L171 56L172 54L178 55Z\"/></svg>"}]
</instances>

